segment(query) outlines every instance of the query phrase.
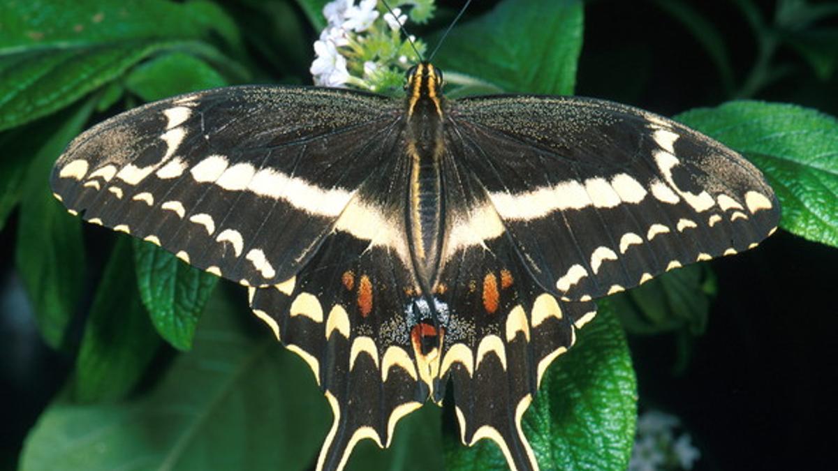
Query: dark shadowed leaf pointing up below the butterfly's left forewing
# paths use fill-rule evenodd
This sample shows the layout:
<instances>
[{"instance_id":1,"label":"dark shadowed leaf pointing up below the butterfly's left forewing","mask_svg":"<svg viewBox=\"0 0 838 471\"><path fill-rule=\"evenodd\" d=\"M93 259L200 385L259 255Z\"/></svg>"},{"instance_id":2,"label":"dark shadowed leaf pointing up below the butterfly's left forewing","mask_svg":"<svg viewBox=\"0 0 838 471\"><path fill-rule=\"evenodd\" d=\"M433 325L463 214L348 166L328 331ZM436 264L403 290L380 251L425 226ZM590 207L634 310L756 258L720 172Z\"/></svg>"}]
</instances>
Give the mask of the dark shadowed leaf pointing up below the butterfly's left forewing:
<instances>
[{"instance_id":1,"label":"dark shadowed leaf pointing up below the butterfly's left forewing","mask_svg":"<svg viewBox=\"0 0 838 471\"><path fill-rule=\"evenodd\" d=\"M72 385L76 401L112 401L140 380L157 353L155 334L134 279L131 241L120 236L85 323Z\"/></svg>"}]
</instances>

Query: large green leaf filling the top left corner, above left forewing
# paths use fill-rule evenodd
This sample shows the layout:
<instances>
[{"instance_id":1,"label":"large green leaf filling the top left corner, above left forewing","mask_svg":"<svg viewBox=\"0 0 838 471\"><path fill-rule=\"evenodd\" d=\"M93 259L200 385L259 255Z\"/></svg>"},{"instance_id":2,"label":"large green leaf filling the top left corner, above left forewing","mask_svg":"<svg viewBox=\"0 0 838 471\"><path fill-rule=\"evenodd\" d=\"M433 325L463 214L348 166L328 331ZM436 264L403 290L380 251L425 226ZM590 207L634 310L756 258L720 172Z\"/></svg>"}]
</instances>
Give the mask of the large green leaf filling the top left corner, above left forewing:
<instances>
[{"instance_id":1,"label":"large green leaf filling the top left corner, above left forewing","mask_svg":"<svg viewBox=\"0 0 838 471\"><path fill-rule=\"evenodd\" d=\"M69 105L158 50L235 25L204 1L48 0L0 5L0 129Z\"/></svg>"}]
</instances>

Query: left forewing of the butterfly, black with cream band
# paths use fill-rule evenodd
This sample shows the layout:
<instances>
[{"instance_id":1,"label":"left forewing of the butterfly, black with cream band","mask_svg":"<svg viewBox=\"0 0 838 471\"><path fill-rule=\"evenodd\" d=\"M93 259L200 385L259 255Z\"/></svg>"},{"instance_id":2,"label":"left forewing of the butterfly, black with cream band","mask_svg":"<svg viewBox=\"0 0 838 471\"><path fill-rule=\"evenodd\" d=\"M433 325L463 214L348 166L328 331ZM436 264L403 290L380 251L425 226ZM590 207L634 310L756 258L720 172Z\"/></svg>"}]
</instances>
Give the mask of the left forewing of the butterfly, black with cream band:
<instances>
[{"instance_id":1,"label":"left forewing of the butterfly, black with cream band","mask_svg":"<svg viewBox=\"0 0 838 471\"><path fill-rule=\"evenodd\" d=\"M85 220L250 286L313 256L370 168L391 158L400 102L241 86L169 98L81 134L54 194Z\"/></svg>"}]
</instances>

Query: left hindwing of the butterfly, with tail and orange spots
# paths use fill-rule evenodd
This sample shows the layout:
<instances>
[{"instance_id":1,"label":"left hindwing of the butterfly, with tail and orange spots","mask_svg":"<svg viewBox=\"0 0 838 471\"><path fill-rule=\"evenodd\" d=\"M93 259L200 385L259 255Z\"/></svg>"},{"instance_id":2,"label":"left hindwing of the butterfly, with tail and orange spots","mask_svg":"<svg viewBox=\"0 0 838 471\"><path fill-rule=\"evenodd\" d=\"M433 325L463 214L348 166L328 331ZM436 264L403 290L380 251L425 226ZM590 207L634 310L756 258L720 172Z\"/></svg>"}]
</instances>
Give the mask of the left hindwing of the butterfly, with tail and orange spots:
<instances>
[{"instance_id":1,"label":"left hindwing of the butterfly, with tail and orange spots","mask_svg":"<svg viewBox=\"0 0 838 471\"><path fill-rule=\"evenodd\" d=\"M429 394L411 338L416 283L404 227L403 156L368 170L370 178L295 277L251 288L254 313L306 360L332 407L318 469L343 468L361 439L389 446L396 423Z\"/></svg>"}]
</instances>

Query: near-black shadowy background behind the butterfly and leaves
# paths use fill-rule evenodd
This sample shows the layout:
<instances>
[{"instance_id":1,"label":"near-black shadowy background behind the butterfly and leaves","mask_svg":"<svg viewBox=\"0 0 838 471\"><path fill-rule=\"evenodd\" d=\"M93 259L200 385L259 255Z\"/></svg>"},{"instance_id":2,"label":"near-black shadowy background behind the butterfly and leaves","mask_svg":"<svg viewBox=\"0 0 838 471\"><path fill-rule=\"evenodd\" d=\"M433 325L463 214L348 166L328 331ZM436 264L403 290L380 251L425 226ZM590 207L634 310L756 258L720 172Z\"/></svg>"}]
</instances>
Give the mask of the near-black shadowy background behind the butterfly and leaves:
<instances>
[{"instance_id":1,"label":"near-black shadowy background behind the butterfly and leaves","mask_svg":"<svg viewBox=\"0 0 838 471\"><path fill-rule=\"evenodd\" d=\"M492 5L477 2L468 14ZM757 54L747 21L732 2L692 5L722 31L735 83L741 84ZM758 5L765 18L772 17L775 2ZM657 3L598 1L585 13L578 95L666 116L732 98L695 37ZM317 33L308 34L313 41ZM789 66L787 75L749 98L838 115L835 74L820 80L791 49L779 49L776 60ZM305 72L297 70L299 80L309 80ZM0 233L0 391L9 395L3 401L0 468L15 468L23 437L72 364L41 343L28 317L13 274L15 233L13 216ZM96 250L96 234L87 243L94 259L107 253ZM674 335L629 337L641 411L654 407L680 417L701 450L699 469L838 468L838 308L832 298L838 250L780 230L754 251L712 261L711 267L718 296L684 370L674 366ZM91 261L91 280L97 270L101 260Z\"/></svg>"}]
</instances>

